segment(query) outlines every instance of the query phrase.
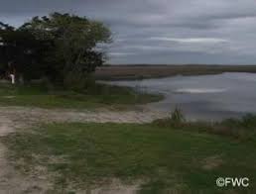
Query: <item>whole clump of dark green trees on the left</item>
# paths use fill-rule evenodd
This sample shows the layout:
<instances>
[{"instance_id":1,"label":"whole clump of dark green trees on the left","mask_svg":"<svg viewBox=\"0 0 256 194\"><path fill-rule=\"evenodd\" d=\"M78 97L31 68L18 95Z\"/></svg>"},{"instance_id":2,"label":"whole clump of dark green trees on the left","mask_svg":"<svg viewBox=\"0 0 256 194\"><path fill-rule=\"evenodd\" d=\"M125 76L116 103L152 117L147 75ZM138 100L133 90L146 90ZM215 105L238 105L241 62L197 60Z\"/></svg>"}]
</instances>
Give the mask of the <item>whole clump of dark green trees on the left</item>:
<instances>
[{"instance_id":1,"label":"whole clump of dark green trees on the left","mask_svg":"<svg viewBox=\"0 0 256 194\"><path fill-rule=\"evenodd\" d=\"M72 86L68 80L78 83L103 64L99 46L110 42L102 23L69 14L35 17L18 29L0 23L0 63L26 80L45 76Z\"/></svg>"}]
</instances>

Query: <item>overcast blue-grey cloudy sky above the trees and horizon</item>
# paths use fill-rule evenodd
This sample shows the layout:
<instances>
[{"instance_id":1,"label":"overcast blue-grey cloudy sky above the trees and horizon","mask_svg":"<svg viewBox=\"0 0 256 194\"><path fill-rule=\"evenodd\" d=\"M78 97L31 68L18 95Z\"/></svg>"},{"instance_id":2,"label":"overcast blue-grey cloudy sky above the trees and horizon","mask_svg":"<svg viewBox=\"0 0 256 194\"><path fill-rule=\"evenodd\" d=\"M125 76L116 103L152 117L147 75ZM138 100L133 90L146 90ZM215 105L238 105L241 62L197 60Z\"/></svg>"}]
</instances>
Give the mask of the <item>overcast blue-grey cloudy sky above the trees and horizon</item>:
<instances>
[{"instance_id":1,"label":"overcast blue-grey cloudy sky above the trees and horizon","mask_svg":"<svg viewBox=\"0 0 256 194\"><path fill-rule=\"evenodd\" d=\"M0 21L68 12L112 31L108 63L256 64L256 0L0 0Z\"/></svg>"}]
</instances>

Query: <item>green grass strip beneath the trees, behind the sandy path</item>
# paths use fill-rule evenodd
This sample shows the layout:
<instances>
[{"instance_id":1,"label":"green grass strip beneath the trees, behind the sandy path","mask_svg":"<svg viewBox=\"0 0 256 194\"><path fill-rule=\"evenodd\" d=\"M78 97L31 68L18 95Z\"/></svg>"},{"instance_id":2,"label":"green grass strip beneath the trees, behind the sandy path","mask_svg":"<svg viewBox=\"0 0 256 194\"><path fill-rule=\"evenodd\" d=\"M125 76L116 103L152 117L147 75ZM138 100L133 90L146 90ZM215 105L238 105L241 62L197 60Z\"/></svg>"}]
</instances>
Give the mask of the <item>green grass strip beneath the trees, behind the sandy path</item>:
<instances>
[{"instance_id":1,"label":"green grass strip beneath the trees, behind the sandy path","mask_svg":"<svg viewBox=\"0 0 256 194\"><path fill-rule=\"evenodd\" d=\"M94 85L81 92L64 89L49 90L44 86L13 86L0 84L0 106L30 106L40 108L113 108L127 109L131 105L159 101L161 95L139 93L127 87Z\"/></svg>"}]
</instances>

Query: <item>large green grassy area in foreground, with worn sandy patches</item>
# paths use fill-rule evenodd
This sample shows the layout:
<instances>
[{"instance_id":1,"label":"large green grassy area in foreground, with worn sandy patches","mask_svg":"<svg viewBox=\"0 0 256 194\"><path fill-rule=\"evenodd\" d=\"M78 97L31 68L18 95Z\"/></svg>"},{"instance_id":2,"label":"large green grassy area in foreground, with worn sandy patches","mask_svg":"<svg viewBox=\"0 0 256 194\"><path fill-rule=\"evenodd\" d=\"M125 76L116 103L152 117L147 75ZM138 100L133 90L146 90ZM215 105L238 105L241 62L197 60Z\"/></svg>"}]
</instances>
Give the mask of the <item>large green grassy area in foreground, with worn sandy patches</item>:
<instances>
[{"instance_id":1,"label":"large green grassy area in foreground, with worn sandy patches","mask_svg":"<svg viewBox=\"0 0 256 194\"><path fill-rule=\"evenodd\" d=\"M218 124L50 124L2 141L24 172L43 165L59 174L57 190L120 178L143 180L139 193L233 194L256 190L255 132L256 117L247 116ZM217 177L248 177L250 186L219 188Z\"/></svg>"}]
</instances>

